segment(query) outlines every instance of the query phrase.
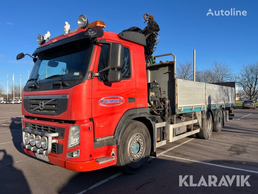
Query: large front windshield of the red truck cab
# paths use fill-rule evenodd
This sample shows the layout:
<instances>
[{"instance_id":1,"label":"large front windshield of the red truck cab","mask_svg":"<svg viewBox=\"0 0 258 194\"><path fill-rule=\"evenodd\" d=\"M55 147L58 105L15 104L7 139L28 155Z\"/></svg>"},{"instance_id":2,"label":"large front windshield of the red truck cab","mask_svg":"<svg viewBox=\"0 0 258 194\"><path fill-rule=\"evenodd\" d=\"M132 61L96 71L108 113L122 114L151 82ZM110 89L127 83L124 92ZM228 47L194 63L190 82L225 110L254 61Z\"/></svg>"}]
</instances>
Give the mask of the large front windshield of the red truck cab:
<instances>
[{"instance_id":1,"label":"large front windshield of the red truck cab","mask_svg":"<svg viewBox=\"0 0 258 194\"><path fill-rule=\"evenodd\" d=\"M62 75L64 80L83 79L92 47L93 39L84 39L43 51L38 55L29 79L35 78L40 83L60 80L60 76L53 76L57 74ZM50 76L53 78L46 79Z\"/></svg>"}]
</instances>

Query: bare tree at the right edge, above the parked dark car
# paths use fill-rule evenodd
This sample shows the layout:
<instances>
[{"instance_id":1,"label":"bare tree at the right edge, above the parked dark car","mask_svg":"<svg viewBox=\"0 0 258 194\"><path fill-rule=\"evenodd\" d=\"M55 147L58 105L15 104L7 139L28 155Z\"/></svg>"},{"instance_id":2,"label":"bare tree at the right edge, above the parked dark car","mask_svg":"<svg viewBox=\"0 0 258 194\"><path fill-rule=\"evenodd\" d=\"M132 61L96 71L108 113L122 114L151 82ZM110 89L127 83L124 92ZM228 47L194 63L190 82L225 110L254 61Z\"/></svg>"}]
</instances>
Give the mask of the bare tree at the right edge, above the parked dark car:
<instances>
[{"instance_id":1,"label":"bare tree at the right edge, above the parked dark car","mask_svg":"<svg viewBox=\"0 0 258 194\"><path fill-rule=\"evenodd\" d=\"M243 65L239 73L235 76L238 83L249 96L249 99L255 97L258 92L258 61L255 63Z\"/></svg>"}]
</instances>

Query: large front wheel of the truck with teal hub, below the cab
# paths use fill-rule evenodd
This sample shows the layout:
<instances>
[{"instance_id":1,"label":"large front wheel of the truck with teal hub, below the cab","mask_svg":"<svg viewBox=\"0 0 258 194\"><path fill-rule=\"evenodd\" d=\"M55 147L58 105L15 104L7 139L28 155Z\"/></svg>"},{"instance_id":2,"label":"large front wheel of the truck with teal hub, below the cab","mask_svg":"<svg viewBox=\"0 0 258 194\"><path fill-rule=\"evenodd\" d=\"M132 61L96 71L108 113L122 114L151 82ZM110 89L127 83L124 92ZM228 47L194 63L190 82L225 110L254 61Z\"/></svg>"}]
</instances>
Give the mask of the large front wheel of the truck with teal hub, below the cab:
<instances>
[{"instance_id":1,"label":"large front wheel of the truck with teal hub, below the cab","mask_svg":"<svg viewBox=\"0 0 258 194\"><path fill-rule=\"evenodd\" d=\"M130 121L117 146L117 164L128 174L139 172L148 161L151 139L147 127L139 121Z\"/></svg>"}]
</instances>

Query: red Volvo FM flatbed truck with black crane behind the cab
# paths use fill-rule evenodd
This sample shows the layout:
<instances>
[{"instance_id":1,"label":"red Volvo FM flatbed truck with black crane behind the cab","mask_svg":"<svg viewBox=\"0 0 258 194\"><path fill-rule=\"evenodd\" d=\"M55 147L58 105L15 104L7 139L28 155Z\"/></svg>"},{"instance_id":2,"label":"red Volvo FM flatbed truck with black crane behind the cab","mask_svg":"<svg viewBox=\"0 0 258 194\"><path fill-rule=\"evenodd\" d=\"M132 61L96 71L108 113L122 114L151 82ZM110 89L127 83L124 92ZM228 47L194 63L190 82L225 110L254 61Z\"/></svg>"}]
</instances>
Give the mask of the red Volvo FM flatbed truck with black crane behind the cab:
<instances>
[{"instance_id":1,"label":"red Volvo FM flatbed truck with black crane behind the cab","mask_svg":"<svg viewBox=\"0 0 258 194\"><path fill-rule=\"evenodd\" d=\"M113 33L81 15L78 29L48 41L39 34L32 56L17 55L35 63L22 93L27 154L74 171L135 173L167 141L221 130L234 88L177 79L173 53L152 56L159 26L144 19L143 30ZM154 60L167 55L173 61Z\"/></svg>"}]
</instances>

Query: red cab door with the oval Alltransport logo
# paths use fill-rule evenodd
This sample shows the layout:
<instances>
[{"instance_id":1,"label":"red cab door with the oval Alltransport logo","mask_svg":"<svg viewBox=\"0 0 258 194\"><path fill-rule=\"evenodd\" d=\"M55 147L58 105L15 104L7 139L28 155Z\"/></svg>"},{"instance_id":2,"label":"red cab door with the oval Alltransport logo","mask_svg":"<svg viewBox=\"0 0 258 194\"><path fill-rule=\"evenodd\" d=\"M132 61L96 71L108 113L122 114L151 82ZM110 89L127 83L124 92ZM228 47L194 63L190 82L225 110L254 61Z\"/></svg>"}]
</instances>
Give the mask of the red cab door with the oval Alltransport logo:
<instances>
[{"instance_id":1,"label":"red cab door with the oval Alltransport logo","mask_svg":"<svg viewBox=\"0 0 258 194\"><path fill-rule=\"evenodd\" d=\"M108 40L106 40L108 41ZM114 134L116 125L126 110L136 107L136 81L133 60L133 46L124 45L123 67L120 82L110 83L107 73L100 73L92 82L92 118L94 137ZM107 67L110 45L98 44L94 73Z\"/></svg>"}]
</instances>

